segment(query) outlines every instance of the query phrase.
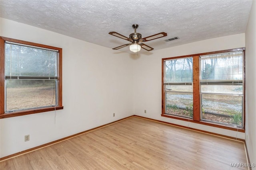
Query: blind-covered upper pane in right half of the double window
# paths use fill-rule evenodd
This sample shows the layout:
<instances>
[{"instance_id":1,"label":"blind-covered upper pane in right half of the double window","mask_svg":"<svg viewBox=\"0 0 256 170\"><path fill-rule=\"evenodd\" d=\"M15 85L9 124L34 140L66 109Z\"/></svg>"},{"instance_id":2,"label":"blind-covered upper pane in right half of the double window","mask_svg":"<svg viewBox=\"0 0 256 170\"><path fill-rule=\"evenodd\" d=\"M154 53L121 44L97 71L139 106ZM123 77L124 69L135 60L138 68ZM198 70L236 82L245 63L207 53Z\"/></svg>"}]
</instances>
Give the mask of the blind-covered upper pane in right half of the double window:
<instances>
[{"instance_id":1,"label":"blind-covered upper pane in right half of the double window","mask_svg":"<svg viewBox=\"0 0 256 170\"><path fill-rule=\"evenodd\" d=\"M201 80L243 80L243 52L201 57Z\"/></svg>"}]
</instances>

